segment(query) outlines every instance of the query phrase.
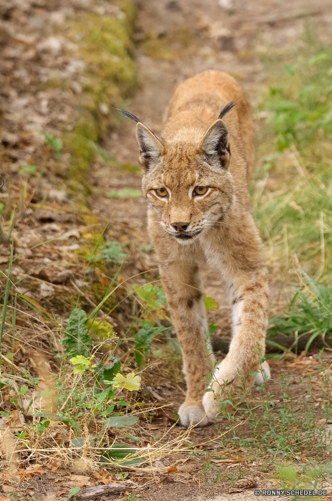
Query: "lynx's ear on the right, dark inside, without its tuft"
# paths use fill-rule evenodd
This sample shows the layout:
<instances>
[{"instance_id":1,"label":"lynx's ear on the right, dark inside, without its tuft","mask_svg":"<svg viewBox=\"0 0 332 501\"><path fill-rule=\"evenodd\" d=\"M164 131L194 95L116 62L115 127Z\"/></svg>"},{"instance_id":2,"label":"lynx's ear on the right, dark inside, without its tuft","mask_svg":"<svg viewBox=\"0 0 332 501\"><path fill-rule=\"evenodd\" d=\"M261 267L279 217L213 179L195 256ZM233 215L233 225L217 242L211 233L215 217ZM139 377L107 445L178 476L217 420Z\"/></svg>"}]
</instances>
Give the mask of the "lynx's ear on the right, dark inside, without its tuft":
<instances>
[{"instance_id":1,"label":"lynx's ear on the right, dark inside, without its tuft","mask_svg":"<svg viewBox=\"0 0 332 501\"><path fill-rule=\"evenodd\" d=\"M224 122L219 118L208 128L199 143L199 150L208 159L209 164L218 164L227 168L230 158L229 132Z\"/></svg>"}]
</instances>

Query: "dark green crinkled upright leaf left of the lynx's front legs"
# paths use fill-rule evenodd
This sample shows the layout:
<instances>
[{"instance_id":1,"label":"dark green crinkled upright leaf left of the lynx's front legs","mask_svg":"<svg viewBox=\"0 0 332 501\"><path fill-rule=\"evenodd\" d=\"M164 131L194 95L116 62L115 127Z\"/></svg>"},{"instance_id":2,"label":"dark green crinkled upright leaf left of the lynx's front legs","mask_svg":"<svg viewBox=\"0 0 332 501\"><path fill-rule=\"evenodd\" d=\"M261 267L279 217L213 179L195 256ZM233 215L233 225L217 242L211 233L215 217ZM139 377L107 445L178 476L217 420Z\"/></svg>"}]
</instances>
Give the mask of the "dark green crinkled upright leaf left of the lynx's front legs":
<instances>
[{"instance_id":1,"label":"dark green crinkled upright leaf left of the lynx's front legs","mask_svg":"<svg viewBox=\"0 0 332 501\"><path fill-rule=\"evenodd\" d=\"M69 316L66 334L62 341L68 359L77 355L84 357L89 355L92 342L87 333L86 320L86 313L80 308L75 308Z\"/></svg>"}]
</instances>

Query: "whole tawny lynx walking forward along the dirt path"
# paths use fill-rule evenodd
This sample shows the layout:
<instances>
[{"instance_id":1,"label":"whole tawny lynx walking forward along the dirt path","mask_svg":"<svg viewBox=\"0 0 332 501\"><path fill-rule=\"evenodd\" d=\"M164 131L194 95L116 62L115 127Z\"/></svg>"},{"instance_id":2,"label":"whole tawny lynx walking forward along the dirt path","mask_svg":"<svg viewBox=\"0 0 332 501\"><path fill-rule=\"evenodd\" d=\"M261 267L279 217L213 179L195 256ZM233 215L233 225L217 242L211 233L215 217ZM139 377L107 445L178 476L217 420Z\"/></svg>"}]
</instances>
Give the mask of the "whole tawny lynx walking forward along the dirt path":
<instances>
[{"instance_id":1,"label":"whole tawny lynx walking forward along the dirt path","mask_svg":"<svg viewBox=\"0 0 332 501\"><path fill-rule=\"evenodd\" d=\"M137 122L148 232L182 351L187 393L180 421L205 426L220 413L222 388L236 392L239 384L251 384L265 347L267 273L248 192L250 105L232 77L207 71L177 88L162 138L132 113L122 113ZM224 279L232 309L233 337L218 365L207 340L206 266ZM260 370L269 377L266 363ZM213 372L213 392L205 392ZM255 382L263 379L258 372Z\"/></svg>"}]
</instances>

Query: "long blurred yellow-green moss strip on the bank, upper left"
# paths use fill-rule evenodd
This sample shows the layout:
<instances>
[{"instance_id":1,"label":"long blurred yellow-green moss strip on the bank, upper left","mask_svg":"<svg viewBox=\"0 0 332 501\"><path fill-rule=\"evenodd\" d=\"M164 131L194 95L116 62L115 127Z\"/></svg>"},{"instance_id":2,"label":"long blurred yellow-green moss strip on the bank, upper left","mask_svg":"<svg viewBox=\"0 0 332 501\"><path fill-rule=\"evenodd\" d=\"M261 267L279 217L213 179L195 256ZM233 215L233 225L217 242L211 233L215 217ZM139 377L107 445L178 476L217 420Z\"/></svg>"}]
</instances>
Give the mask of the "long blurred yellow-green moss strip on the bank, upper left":
<instances>
[{"instance_id":1,"label":"long blurred yellow-green moss strip on the bank, upper left","mask_svg":"<svg viewBox=\"0 0 332 501\"><path fill-rule=\"evenodd\" d=\"M64 35L72 43L69 57L83 61L82 93L73 95L77 118L62 140L70 153L68 188L81 204L91 193L86 174L95 158L94 144L119 121L113 108L125 106L137 82L131 35L135 9L131 0L108 0L112 16L88 12L71 20ZM56 87L66 85L56 84ZM54 82L47 82L48 87Z\"/></svg>"}]
</instances>

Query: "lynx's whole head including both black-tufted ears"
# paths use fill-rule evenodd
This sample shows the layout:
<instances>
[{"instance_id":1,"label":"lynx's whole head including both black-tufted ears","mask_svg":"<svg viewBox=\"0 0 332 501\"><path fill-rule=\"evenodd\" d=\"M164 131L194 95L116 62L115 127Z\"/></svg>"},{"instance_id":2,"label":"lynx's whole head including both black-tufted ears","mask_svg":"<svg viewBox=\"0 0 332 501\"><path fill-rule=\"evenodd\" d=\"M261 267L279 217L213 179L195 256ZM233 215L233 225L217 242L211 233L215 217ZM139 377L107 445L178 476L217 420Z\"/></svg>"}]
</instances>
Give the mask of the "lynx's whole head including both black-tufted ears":
<instances>
[{"instance_id":1,"label":"lynx's whole head including both black-tufted ears","mask_svg":"<svg viewBox=\"0 0 332 501\"><path fill-rule=\"evenodd\" d=\"M135 115L139 163L144 169L142 191L163 231L178 242L189 243L224 219L234 193L229 133L222 117L233 107L229 103L219 118L199 137L180 134L171 140L154 135Z\"/></svg>"}]
</instances>

